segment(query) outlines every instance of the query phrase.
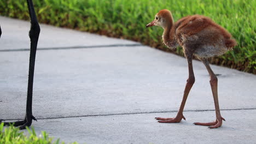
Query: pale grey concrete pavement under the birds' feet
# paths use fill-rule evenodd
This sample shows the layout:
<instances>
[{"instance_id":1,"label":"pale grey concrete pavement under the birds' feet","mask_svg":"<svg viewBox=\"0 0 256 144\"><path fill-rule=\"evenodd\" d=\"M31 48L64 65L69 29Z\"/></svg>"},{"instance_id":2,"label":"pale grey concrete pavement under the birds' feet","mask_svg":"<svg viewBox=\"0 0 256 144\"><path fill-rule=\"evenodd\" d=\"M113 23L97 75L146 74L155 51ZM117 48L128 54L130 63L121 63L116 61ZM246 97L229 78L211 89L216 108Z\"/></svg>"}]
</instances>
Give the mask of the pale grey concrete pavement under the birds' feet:
<instances>
[{"instance_id":1,"label":"pale grey concrete pavement under the birds' feet","mask_svg":"<svg viewBox=\"0 0 256 144\"><path fill-rule=\"evenodd\" d=\"M0 118L24 118L30 23L0 16ZM34 72L32 125L37 133L79 143L256 143L256 76L211 65L218 75L219 104L226 119L212 122L209 75L193 61L195 84L181 123L174 117L188 78L183 57L142 44L40 25ZM27 133L26 130L24 130Z\"/></svg>"}]
</instances>

